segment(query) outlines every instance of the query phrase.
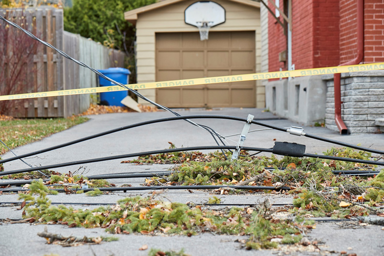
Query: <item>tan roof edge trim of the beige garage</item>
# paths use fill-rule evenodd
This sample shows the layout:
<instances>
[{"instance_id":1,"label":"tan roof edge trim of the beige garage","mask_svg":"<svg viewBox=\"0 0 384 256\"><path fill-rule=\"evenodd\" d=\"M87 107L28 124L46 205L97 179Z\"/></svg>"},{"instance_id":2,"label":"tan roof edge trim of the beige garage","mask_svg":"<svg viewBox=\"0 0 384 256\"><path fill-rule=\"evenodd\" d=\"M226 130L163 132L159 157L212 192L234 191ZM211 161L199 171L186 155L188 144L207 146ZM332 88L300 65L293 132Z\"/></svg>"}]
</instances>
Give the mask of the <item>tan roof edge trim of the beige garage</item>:
<instances>
[{"instance_id":1,"label":"tan roof edge trim of the beige garage","mask_svg":"<svg viewBox=\"0 0 384 256\"><path fill-rule=\"evenodd\" d=\"M164 7L167 5L176 4L176 3L181 2L181 1L184 1L184 0L163 0L163 1L157 2L157 3L152 4L152 5L147 5L147 6L143 6L143 7L131 10L131 11L127 11L127 12L124 12L124 19L129 21L133 25L136 25L136 20L137 20L138 14L143 13L143 12L147 12L147 11L151 11L151 10L154 10L154 9L157 9L160 7ZM254 8L260 8L259 2L255 2L255 1L251 1L251 0L228 0L228 1L236 2L236 3L247 5L247 6L251 6Z\"/></svg>"}]
</instances>

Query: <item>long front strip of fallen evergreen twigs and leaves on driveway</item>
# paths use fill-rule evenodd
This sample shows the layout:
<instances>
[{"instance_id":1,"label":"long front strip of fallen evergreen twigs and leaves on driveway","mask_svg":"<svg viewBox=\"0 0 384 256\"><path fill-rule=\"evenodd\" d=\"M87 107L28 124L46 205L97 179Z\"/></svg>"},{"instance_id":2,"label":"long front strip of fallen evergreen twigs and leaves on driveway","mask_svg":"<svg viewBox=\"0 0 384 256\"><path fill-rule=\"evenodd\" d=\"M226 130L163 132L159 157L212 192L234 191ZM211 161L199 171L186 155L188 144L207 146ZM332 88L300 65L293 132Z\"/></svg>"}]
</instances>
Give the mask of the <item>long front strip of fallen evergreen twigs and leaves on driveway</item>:
<instances>
[{"instance_id":1,"label":"long front strip of fallen evergreen twigs and leaves on driveway","mask_svg":"<svg viewBox=\"0 0 384 256\"><path fill-rule=\"evenodd\" d=\"M197 232L249 235L247 248L274 248L279 244L300 241L301 234L311 225L273 217L270 206L259 208L232 207L225 210L205 210L150 198L125 198L112 207L93 210L73 209L64 205L52 206L47 198L48 188L32 182L30 193L20 194L26 202L24 217L39 223L65 224L69 227L102 227L110 233L186 234ZM35 198L33 194L37 194ZM273 241L273 238L281 240ZM272 240L272 241L271 241Z\"/></svg>"}]
</instances>

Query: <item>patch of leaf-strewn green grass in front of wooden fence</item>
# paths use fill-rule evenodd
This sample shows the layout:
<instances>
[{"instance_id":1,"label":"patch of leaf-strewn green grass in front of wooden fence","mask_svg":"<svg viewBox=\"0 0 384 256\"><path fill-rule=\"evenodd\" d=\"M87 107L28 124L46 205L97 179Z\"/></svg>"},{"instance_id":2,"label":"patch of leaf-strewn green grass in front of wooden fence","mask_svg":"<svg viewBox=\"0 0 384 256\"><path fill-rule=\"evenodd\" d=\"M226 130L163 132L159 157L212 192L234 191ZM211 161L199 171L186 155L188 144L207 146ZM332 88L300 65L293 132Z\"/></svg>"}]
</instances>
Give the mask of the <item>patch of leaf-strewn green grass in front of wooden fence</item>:
<instances>
[{"instance_id":1,"label":"patch of leaf-strewn green grass in front of wooden fence","mask_svg":"<svg viewBox=\"0 0 384 256\"><path fill-rule=\"evenodd\" d=\"M88 118L72 116L50 119L13 119L0 121L0 139L10 148L41 140L54 133L66 130L76 124L86 122ZM8 152L3 144L0 154Z\"/></svg>"}]
</instances>

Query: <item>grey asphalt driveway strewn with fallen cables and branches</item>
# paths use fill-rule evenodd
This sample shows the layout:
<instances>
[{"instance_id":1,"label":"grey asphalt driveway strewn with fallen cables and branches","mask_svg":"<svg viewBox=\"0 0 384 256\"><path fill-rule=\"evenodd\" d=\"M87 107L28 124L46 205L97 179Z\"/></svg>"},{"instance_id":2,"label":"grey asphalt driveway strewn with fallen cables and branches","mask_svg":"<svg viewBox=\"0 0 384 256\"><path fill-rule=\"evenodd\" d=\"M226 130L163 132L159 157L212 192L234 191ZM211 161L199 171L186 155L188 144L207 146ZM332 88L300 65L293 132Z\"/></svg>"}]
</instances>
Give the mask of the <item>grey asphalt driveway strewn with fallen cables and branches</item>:
<instances>
[{"instance_id":1,"label":"grey asphalt driveway strewn with fallen cables and branches","mask_svg":"<svg viewBox=\"0 0 384 256\"><path fill-rule=\"evenodd\" d=\"M230 115L247 118L248 114L254 115L254 119L268 124L281 127L302 126L300 123L291 122L286 119L274 116L261 109L191 109L177 110L182 115ZM86 123L77 125L66 131L54 134L41 141L34 142L22 147L15 148L17 155L41 150L57 144L69 142L96 133L115 129L124 125L134 124L142 121L173 116L168 112L154 113L116 113L106 115L89 116L90 120ZM223 136L241 133L244 122L231 121L224 119L195 119L199 124L212 127ZM384 150L384 134L358 134L358 135L339 135L334 131L324 127L305 126L304 132L319 135L322 137L340 140L353 144ZM250 130L260 130L265 127L252 124ZM227 141L231 145L236 145L239 135L229 137ZM194 126L184 120L168 121L155 124L144 125L130 130L120 131L114 134L91 139L68 147L60 148L55 151L38 154L35 157L26 158L33 166L45 166L70 161L92 159L106 156L115 156L129 153L145 152L152 150L162 150L169 147L169 142L173 142L177 147L208 146L216 145L211 135L201 127ZM306 153L322 154L333 144L313 140L306 137L298 137L285 132L275 130L263 130L249 133L246 137L244 146L270 148L275 141L296 142L306 145ZM268 155L268 154L266 154ZM3 159L12 157L8 152L3 155ZM154 172L167 170L173 165L134 165L122 164L118 159L104 162L87 163L56 168L60 173L81 172L86 176L111 174L111 173L134 173L134 172ZM21 161L12 161L4 164L5 170L26 168ZM135 179L112 179L109 180L116 185L131 184L139 186L144 178ZM86 197L84 194L65 195L59 194L50 196L53 202L66 203L115 203L117 200L127 196L148 195L151 191L127 191L118 192L100 197ZM209 193L196 191L191 194L186 190L169 190L160 195L164 200L177 202L203 203L208 200ZM270 198L272 204L290 204L292 197L285 195L252 194L252 195L226 195L222 201L225 203L258 203L266 197ZM0 202L15 202L17 194L0 195ZM0 205L0 219L20 219L21 211L18 206L11 204ZM77 208L92 208L96 206L79 206ZM212 234L199 234L193 237L184 236L164 236L151 237L137 234L118 234L119 241L103 243L94 246L61 247L58 245L48 245L45 239L41 239L36 234L42 231L46 225L30 224L0 224L0 255L44 255L57 253L59 255L146 255L147 251L138 250L143 244L149 248L159 248L162 250L185 249L185 252L196 255L339 255L340 251L357 253L357 255L383 255L383 245L380 240L384 237L384 230L379 226L368 225L360 226L354 222L348 225L339 225L336 222L318 222L316 229L312 230L308 236L311 240L318 240L321 251L295 252L293 250L283 251L247 251L240 249L240 244L234 242L239 239L237 236L214 236ZM63 236L70 234L76 236L102 236L105 235L103 229L67 228L61 225L48 225L48 230L54 233L61 233ZM380 239L381 238L381 239Z\"/></svg>"}]
</instances>

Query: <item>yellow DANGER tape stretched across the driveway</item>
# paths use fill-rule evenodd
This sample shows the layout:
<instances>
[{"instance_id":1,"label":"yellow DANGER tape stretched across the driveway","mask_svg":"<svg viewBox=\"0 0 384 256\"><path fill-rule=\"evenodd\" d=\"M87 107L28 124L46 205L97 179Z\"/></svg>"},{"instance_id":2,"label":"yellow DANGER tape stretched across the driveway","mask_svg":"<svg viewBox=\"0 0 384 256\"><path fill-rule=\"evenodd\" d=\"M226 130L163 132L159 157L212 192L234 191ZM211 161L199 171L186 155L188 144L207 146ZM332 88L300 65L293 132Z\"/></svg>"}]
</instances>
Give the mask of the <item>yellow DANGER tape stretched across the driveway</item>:
<instances>
[{"instance_id":1,"label":"yellow DANGER tape stretched across the driveway","mask_svg":"<svg viewBox=\"0 0 384 256\"><path fill-rule=\"evenodd\" d=\"M172 81L163 81L163 82L135 83L135 84L126 84L126 87L133 90L156 89L156 88L169 88L169 87L179 87L179 86L193 86L197 84L214 84L214 83L222 83L222 82L263 80L263 79L271 79L271 78L313 76L313 75L325 75L325 74L382 70L382 69L384 69L384 62L351 65L351 66L329 67L329 68L301 69L301 70L277 71L277 72L268 72L268 73L245 74L245 75L193 78L193 79L172 80ZM0 96L0 100L29 99L29 98L53 97L53 96L63 96L63 95L87 94L87 93L104 93L104 92L115 92L115 91L124 91L124 90L127 90L127 89L113 85L113 86L50 91L50 92L2 95Z\"/></svg>"}]
</instances>

